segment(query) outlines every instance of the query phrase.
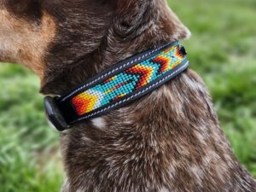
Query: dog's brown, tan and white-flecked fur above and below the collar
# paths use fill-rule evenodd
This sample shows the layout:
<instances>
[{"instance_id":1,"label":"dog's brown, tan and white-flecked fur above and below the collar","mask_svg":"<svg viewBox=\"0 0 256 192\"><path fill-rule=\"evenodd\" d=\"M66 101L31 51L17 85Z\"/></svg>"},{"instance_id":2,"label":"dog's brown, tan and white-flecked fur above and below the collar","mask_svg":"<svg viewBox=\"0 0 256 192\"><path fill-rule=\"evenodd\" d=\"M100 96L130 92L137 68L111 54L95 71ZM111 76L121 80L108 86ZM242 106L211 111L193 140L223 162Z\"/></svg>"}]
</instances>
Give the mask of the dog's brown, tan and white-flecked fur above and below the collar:
<instances>
[{"instance_id":1,"label":"dog's brown, tan and white-flecked fur above and below the collar","mask_svg":"<svg viewBox=\"0 0 256 192\"><path fill-rule=\"evenodd\" d=\"M189 38L165 0L0 0L0 61L62 95L145 49ZM63 192L256 191L193 71L61 136Z\"/></svg>"}]
</instances>

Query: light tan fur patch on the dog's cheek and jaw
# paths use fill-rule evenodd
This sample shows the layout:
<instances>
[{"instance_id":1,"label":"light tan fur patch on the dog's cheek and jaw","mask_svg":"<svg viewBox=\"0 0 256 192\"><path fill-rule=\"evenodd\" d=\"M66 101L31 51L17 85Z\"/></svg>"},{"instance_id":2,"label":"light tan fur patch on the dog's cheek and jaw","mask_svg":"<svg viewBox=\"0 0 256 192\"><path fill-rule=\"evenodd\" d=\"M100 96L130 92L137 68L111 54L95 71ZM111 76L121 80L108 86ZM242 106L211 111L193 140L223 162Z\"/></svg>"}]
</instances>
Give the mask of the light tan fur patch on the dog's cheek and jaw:
<instances>
[{"instance_id":1,"label":"light tan fur patch on the dog's cheek and jaw","mask_svg":"<svg viewBox=\"0 0 256 192\"><path fill-rule=\"evenodd\" d=\"M5 9L0 12L0 39L8 52L2 60L23 64L40 78L44 75L44 54L55 38L55 21L49 14L42 14L40 23L36 23L15 17Z\"/></svg>"}]
</instances>

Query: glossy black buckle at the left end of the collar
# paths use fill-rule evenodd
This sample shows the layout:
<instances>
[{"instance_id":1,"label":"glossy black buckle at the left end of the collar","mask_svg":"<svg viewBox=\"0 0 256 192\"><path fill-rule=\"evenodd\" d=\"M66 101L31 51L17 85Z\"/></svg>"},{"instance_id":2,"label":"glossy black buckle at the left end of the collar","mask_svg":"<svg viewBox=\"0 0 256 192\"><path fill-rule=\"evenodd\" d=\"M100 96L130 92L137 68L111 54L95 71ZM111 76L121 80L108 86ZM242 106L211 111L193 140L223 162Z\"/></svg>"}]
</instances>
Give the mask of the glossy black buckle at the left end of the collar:
<instances>
[{"instance_id":1,"label":"glossy black buckle at the left end of the collar","mask_svg":"<svg viewBox=\"0 0 256 192\"><path fill-rule=\"evenodd\" d=\"M49 122L55 126L57 131L65 131L68 129L66 120L63 118L60 109L56 104L57 97L45 96L44 108Z\"/></svg>"}]
</instances>

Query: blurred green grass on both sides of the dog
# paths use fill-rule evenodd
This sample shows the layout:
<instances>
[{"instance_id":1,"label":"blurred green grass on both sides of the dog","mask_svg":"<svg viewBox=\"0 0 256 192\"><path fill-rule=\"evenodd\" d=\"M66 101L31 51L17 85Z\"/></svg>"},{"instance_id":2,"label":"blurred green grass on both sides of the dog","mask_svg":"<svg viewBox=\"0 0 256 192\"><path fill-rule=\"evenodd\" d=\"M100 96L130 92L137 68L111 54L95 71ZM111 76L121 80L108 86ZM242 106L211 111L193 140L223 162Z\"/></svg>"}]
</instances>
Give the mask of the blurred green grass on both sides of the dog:
<instances>
[{"instance_id":1,"label":"blurred green grass on both sides of the dog","mask_svg":"<svg viewBox=\"0 0 256 192\"><path fill-rule=\"evenodd\" d=\"M232 148L256 177L256 1L170 0L193 33L184 42L205 80ZM0 191L57 192L58 134L44 118L38 79L0 66Z\"/></svg>"}]
</instances>

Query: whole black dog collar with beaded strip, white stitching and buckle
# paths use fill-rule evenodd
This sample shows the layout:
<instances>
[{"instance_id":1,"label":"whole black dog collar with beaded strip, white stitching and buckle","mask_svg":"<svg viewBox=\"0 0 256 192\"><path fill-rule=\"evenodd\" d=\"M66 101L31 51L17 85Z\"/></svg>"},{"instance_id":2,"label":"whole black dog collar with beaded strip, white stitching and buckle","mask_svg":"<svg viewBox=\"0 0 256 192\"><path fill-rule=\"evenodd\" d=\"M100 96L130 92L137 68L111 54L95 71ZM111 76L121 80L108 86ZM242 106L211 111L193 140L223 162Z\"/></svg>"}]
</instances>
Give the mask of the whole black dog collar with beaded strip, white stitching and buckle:
<instances>
[{"instance_id":1,"label":"whole black dog collar with beaded strip, white stitching and buckle","mask_svg":"<svg viewBox=\"0 0 256 192\"><path fill-rule=\"evenodd\" d=\"M58 131L121 108L189 67L186 51L172 43L121 61L65 96L45 96L49 121Z\"/></svg>"}]
</instances>

